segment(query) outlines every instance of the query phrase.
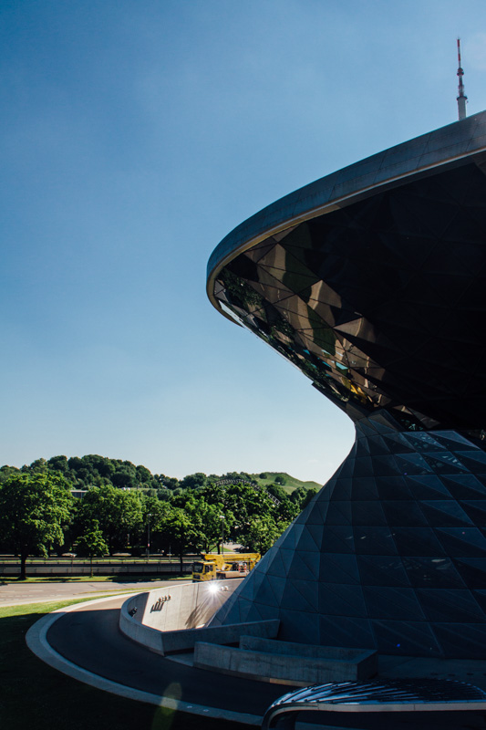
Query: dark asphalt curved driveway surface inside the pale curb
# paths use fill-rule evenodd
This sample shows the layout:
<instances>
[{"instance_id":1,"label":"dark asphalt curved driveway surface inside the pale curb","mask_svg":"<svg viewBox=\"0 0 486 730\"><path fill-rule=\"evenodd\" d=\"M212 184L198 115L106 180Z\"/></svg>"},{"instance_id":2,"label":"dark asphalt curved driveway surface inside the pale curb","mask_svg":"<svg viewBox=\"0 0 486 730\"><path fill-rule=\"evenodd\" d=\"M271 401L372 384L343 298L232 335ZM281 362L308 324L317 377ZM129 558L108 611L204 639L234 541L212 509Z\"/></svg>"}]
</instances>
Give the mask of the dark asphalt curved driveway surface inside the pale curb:
<instances>
[{"instance_id":1,"label":"dark asphalt curved driveway surface inside the pale curb","mask_svg":"<svg viewBox=\"0 0 486 730\"><path fill-rule=\"evenodd\" d=\"M47 631L48 643L78 666L151 694L217 709L224 714L262 716L274 699L291 690L283 684L253 682L176 663L129 641L119 631L120 599L69 611ZM207 710L202 710L207 712ZM484 730L483 713L329 713L322 726L359 730Z\"/></svg>"}]
</instances>

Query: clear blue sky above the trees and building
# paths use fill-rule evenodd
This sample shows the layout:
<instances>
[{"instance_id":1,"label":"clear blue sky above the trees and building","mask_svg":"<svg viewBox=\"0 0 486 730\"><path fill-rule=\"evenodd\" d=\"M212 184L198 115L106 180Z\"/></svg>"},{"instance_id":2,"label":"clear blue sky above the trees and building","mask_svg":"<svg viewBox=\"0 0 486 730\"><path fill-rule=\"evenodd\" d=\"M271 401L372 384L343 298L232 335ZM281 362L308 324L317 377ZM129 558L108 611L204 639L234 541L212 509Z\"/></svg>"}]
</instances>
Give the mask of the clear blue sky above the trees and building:
<instances>
[{"instance_id":1,"label":"clear blue sky above the trees and building","mask_svg":"<svg viewBox=\"0 0 486 730\"><path fill-rule=\"evenodd\" d=\"M324 483L346 416L205 294L285 193L486 108L484 0L1 0L0 464Z\"/></svg>"}]
</instances>

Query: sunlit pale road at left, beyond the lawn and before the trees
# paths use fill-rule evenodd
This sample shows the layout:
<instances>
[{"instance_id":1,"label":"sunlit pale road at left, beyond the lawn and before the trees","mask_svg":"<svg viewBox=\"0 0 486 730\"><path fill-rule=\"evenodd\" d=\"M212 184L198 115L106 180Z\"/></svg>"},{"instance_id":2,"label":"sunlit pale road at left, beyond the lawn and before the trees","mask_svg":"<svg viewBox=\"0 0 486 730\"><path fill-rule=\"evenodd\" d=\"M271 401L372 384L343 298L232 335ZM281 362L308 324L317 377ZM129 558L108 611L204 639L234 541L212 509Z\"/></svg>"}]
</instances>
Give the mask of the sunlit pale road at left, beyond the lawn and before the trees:
<instances>
[{"instance_id":1,"label":"sunlit pale road at left, beyond the lawn and before the trees","mask_svg":"<svg viewBox=\"0 0 486 730\"><path fill-rule=\"evenodd\" d=\"M156 589L171 585L170 580L123 581L107 580L103 582L40 582L4 583L0 579L0 607L16 606L26 603L43 603L51 600L86 599L90 596L110 593L123 593L133 589Z\"/></svg>"}]
</instances>

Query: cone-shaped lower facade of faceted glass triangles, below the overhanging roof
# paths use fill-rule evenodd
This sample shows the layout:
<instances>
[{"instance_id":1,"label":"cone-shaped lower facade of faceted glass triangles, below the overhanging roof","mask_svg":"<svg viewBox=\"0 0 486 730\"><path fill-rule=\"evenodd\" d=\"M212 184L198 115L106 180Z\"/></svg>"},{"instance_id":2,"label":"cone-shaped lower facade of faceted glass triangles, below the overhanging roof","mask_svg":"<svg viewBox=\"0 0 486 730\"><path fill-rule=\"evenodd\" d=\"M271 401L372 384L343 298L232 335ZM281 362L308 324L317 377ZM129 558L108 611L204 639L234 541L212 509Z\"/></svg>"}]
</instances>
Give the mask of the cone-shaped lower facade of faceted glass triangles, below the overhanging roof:
<instances>
[{"instance_id":1,"label":"cone-shaped lower facade of faceted glass triangles, below the overhanging roof","mask_svg":"<svg viewBox=\"0 0 486 730\"><path fill-rule=\"evenodd\" d=\"M280 618L287 641L483 659L485 518L481 449L373 416L213 624Z\"/></svg>"}]
</instances>

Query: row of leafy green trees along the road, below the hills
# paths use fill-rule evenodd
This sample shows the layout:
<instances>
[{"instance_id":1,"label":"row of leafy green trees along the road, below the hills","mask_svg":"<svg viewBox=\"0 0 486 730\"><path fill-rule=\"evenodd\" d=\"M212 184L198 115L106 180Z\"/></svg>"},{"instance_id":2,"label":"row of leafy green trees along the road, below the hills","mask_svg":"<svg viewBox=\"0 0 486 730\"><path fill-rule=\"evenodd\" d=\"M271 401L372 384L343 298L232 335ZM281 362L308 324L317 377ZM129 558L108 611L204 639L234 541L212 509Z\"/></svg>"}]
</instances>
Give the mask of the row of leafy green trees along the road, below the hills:
<instances>
[{"instance_id":1,"label":"row of leafy green trees along the road, below the hills","mask_svg":"<svg viewBox=\"0 0 486 730\"><path fill-rule=\"evenodd\" d=\"M91 486L77 499L72 483L47 464L4 473L0 482L0 550L20 557L23 577L32 555L140 553L149 537L152 552L181 561L217 546L222 530L227 541L264 553L315 494L298 488L287 495L280 485L262 488L240 476L236 484L205 477L204 485L170 491L168 499L112 484Z\"/></svg>"}]
</instances>

